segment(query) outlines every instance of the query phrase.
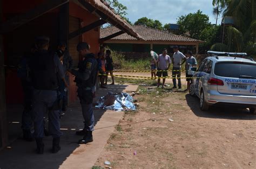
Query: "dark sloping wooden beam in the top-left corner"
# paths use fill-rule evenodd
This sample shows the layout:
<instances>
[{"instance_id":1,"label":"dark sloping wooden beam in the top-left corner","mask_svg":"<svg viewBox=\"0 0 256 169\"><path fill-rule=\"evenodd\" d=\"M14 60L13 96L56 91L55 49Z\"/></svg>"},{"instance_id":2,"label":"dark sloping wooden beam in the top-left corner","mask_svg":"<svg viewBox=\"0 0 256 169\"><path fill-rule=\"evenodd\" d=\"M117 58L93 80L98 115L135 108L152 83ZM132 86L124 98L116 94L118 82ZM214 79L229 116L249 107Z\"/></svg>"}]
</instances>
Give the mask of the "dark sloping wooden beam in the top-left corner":
<instances>
[{"instance_id":1,"label":"dark sloping wooden beam in the top-left corner","mask_svg":"<svg viewBox=\"0 0 256 169\"><path fill-rule=\"evenodd\" d=\"M45 3L36 6L30 11L18 15L0 25L0 33L8 33L15 30L17 27L24 25L25 23L30 22L31 20L42 16L44 13L47 13L53 9L58 8L59 6L68 3L69 0L48 0Z\"/></svg>"}]
</instances>

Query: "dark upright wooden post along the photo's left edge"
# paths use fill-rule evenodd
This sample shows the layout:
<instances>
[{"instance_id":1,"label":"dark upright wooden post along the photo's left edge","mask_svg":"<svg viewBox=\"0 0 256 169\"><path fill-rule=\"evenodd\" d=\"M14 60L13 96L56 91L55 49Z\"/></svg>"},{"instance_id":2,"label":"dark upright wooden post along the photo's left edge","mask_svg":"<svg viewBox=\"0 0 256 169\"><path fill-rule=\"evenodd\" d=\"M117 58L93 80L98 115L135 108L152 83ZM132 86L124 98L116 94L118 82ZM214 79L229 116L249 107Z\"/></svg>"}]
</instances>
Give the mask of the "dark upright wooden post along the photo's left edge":
<instances>
[{"instance_id":1,"label":"dark upright wooden post along the photo's left edge","mask_svg":"<svg viewBox=\"0 0 256 169\"><path fill-rule=\"evenodd\" d=\"M3 20L3 6L0 1L0 22ZM8 122L5 101L5 72L3 36L0 35L0 149L8 145Z\"/></svg>"}]
</instances>

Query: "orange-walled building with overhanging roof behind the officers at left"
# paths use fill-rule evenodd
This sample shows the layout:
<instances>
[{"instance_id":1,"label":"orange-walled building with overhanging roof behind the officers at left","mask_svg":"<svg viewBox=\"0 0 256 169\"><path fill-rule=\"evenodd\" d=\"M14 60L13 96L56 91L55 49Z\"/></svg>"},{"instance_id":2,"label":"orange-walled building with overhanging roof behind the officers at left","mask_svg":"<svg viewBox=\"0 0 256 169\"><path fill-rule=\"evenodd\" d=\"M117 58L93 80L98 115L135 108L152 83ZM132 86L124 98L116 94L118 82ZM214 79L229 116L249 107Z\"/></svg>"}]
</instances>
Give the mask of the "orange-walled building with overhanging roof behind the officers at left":
<instances>
[{"instance_id":1,"label":"orange-walled building with overhanging roof behind the officers at left","mask_svg":"<svg viewBox=\"0 0 256 169\"><path fill-rule=\"evenodd\" d=\"M8 144L7 107L21 104L23 93L17 78L18 65L24 52L30 51L37 36L50 38L50 51L60 41L68 44L74 66L80 60L76 45L86 41L97 53L100 26L110 23L135 39L143 39L133 27L100 0L24 0L1 1L0 5L0 149ZM111 37L113 35L109 34ZM73 76L69 77L69 102L77 99ZM21 114L21 112L16 112Z\"/></svg>"}]
</instances>

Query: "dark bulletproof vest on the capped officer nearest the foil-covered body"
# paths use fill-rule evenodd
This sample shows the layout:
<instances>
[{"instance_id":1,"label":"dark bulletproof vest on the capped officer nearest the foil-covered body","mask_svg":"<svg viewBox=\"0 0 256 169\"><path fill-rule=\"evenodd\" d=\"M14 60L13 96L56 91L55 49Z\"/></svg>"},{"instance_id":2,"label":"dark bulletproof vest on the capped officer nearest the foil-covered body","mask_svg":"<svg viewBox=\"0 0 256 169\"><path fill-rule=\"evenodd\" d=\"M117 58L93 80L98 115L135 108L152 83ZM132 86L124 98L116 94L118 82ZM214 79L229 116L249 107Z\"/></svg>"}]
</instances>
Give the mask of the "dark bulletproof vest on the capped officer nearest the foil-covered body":
<instances>
[{"instance_id":1,"label":"dark bulletproof vest on the capped officer nearest the foil-covered body","mask_svg":"<svg viewBox=\"0 0 256 169\"><path fill-rule=\"evenodd\" d=\"M98 62L95 59L94 54L92 54L92 53L87 54L85 59L83 61L79 62L79 65L78 65L79 72L80 73L85 72L86 63L88 61L92 63L92 65L91 65L91 74L90 74L89 79L81 81L80 84L77 84L79 86L82 85L82 87L93 87L93 86L96 85L96 78L97 78L97 73L98 73Z\"/></svg>"}]
</instances>

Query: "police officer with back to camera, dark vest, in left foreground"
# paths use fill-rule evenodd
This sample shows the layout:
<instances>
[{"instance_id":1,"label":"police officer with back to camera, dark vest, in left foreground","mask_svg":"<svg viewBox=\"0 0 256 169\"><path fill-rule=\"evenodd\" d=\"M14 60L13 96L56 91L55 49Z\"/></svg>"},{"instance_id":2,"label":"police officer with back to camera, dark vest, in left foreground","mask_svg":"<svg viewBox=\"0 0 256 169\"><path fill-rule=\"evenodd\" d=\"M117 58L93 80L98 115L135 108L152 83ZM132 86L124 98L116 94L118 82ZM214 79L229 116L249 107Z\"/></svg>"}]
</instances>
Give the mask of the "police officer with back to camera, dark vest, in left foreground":
<instances>
[{"instance_id":1,"label":"police officer with back to camera, dark vest, in left foreground","mask_svg":"<svg viewBox=\"0 0 256 169\"><path fill-rule=\"evenodd\" d=\"M53 137L52 153L60 150L60 123L58 103L58 76L65 86L65 74L61 63L55 55L48 52L49 38L36 38L37 52L30 61L31 81L33 86L32 116L35 128L37 153L44 153L44 114L49 110L49 132Z\"/></svg>"}]
</instances>

